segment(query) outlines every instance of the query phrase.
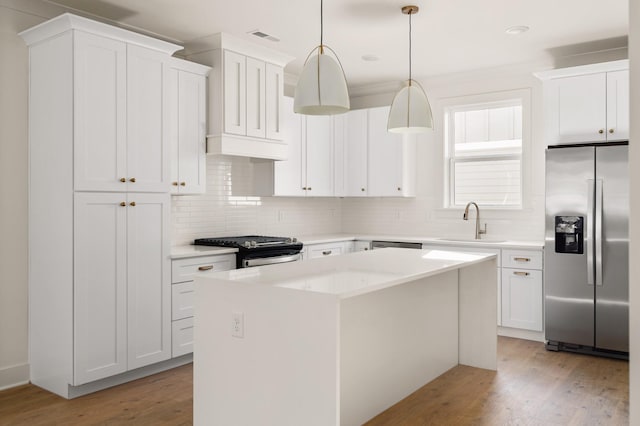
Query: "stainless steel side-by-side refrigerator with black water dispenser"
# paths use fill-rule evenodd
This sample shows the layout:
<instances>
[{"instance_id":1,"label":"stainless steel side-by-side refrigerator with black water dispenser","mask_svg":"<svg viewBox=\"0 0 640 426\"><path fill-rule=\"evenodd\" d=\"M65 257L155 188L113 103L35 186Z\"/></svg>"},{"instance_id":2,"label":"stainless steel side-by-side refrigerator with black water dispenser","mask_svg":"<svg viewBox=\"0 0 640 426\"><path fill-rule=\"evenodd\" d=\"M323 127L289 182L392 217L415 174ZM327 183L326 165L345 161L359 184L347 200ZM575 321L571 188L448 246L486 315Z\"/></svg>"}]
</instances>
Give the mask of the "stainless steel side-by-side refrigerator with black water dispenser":
<instances>
[{"instance_id":1,"label":"stainless steel side-by-side refrigerator with black water dispenser","mask_svg":"<svg viewBox=\"0 0 640 426\"><path fill-rule=\"evenodd\" d=\"M627 144L550 146L545 222L547 349L627 356Z\"/></svg>"}]
</instances>

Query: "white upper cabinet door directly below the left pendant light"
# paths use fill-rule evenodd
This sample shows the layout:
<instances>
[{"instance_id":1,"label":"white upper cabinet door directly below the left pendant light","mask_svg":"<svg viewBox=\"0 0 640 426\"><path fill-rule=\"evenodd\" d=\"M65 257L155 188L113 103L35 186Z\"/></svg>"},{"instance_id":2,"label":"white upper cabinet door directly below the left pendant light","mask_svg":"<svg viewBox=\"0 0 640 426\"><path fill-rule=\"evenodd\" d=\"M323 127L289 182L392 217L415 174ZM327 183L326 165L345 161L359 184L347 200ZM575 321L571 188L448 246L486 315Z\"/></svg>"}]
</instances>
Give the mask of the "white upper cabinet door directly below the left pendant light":
<instances>
[{"instance_id":1,"label":"white upper cabinet door directly below the left pendant light","mask_svg":"<svg viewBox=\"0 0 640 426\"><path fill-rule=\"evenodd\" d=\"M305 116L307 196L333 195L333 129L331 116Z\"/></svg>"}]
</instances>

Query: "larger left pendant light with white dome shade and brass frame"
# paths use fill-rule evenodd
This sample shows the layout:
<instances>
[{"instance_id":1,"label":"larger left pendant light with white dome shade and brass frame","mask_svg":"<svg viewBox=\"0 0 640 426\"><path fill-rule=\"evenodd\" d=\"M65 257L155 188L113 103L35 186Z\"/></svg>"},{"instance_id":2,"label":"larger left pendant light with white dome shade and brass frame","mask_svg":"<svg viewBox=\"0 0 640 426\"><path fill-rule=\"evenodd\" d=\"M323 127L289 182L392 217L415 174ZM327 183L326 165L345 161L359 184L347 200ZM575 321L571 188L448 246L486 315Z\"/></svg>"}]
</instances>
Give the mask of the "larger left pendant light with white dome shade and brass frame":
<instances>
[{"instance_id":1,"label":"larger left pendant light with white dome shade and brass frame","mask_svg":"<svg viewBox=\"0 0 640 426\"><path fill-rule=\"evenodd\" d=\"M323 43L322 6L320 0L320 45L307 56L293 98L293 111L300 114L342 114L350 107L342 64L333 49Z\"/></svg>"}]
</instances>

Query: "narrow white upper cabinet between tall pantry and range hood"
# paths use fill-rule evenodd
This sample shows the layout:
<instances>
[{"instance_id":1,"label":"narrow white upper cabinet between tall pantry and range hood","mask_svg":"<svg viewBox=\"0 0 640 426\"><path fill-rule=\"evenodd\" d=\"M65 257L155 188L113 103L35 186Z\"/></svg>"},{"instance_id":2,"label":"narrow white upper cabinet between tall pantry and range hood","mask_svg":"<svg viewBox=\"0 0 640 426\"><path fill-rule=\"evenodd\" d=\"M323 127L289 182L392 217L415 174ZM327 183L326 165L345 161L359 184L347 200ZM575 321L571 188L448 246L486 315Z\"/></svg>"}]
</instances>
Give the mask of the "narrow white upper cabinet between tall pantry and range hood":
<instances>
[{"instance_id":1,"label":"narrow white upper cabinet between tall pantry and range hood","mask_svg":"<svg viewBox=\"0 0 640 426\"><path fill-rule=\"evenodd\" d=\"M172 58L166 66L165 105L171 147L171 193L206 191L206 76L210 68Z\"/></svg>"}]
</instances>

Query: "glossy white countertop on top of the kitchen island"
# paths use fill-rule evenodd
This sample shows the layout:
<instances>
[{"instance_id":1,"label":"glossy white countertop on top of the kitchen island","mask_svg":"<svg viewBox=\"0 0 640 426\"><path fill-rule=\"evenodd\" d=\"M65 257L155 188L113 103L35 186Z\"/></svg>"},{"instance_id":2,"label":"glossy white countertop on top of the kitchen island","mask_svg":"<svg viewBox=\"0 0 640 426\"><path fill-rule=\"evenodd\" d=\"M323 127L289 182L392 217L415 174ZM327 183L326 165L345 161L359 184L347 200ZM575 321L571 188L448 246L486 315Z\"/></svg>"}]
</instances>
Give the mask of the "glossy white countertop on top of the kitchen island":
<instances>
[{"instance_id":1,"label":"glossy white countertop on top of the kitchen island","mask_svg":"<svg viewBox=\"0 0 640 426\"><path fill-rule=\"evenodd\" d=\"M344 299L441 274L492 257L496 255L385 248L286 263L277 267L204 272L199 275L215 277L219 281L333 294Z\"/></svg>"}]
</instances>

